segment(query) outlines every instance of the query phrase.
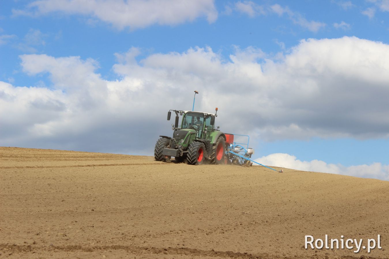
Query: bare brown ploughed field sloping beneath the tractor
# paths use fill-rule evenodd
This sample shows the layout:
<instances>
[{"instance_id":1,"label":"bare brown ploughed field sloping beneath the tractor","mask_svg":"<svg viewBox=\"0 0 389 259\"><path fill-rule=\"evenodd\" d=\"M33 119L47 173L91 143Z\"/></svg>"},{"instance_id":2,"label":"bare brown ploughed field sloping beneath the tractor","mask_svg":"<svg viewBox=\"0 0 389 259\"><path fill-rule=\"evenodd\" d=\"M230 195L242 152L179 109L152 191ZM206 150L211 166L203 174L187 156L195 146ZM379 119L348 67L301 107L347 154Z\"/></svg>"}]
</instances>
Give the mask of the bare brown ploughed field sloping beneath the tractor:
<instances>
[{"instance_id":1,"label":"bare brown ploughed field sloping beneath the tractor","mask_svg":"<svg viewBox=\"0 0 389 259\"><path fill-rule=\"evenodd\" d=\"M389 182L0 148L0 257L389 257ZM305 249L304 237L382 249Z\"/></svg>"}]
</instances>

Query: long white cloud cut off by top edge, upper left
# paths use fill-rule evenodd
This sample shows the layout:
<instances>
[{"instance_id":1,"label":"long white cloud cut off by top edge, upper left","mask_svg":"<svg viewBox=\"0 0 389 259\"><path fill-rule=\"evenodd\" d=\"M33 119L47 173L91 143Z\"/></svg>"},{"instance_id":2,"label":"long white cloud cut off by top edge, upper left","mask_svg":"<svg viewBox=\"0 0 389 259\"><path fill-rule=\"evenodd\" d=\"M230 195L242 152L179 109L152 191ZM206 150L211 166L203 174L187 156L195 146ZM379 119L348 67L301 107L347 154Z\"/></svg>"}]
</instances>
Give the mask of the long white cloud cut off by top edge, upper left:
<instances>
[{"instance_id":1,"label":"long white cloud cut off by top edge, upper left","mask_svg":"<svg viewBox=\"0 0 389 259\"><path fill-rule=\"evenodd\" d=\"M216 21L214 0L38 0L26 10L12 10L14 16L40 16L52 12L92 16L119 29L145 28L153 24L175 25L205 16Z\"/></svg>"}]
</instances>

